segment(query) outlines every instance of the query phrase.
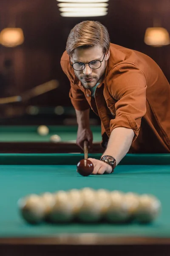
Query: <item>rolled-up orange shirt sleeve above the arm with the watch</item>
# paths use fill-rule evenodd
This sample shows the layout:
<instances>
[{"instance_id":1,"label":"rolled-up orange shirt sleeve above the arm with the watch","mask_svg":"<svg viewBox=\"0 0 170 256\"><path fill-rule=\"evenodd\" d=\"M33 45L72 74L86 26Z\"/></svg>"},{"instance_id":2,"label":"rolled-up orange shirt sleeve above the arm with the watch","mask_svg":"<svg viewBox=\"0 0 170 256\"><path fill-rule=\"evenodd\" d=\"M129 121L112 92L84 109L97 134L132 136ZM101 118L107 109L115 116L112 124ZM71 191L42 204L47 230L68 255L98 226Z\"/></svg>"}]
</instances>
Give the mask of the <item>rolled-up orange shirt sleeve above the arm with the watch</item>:
<instances>
[{"instance_id":1,"label":"rolled-up orange shirt sleeve above the arm with the watch","mask_svg":"<svg viewBox=\"0 0 170 256\"><path fill-rule=\"evenodd\" d=\"M108 90L116 99L116 117L111 119L110 131L117 127L133 129L136 140L142 116L146 113L146 79L133 64L119 64L108 78Z\"/></svg>"}]
</instances>

